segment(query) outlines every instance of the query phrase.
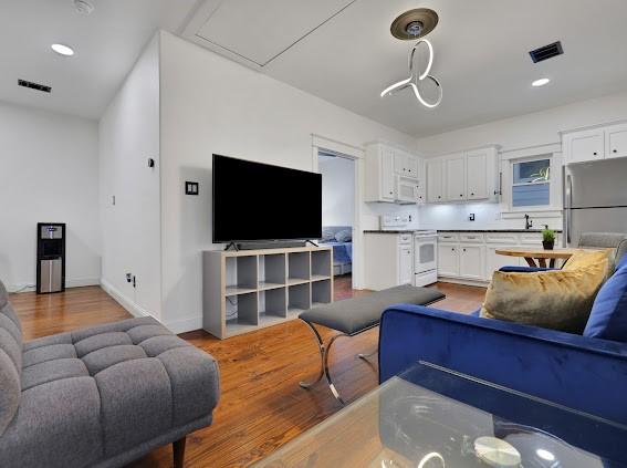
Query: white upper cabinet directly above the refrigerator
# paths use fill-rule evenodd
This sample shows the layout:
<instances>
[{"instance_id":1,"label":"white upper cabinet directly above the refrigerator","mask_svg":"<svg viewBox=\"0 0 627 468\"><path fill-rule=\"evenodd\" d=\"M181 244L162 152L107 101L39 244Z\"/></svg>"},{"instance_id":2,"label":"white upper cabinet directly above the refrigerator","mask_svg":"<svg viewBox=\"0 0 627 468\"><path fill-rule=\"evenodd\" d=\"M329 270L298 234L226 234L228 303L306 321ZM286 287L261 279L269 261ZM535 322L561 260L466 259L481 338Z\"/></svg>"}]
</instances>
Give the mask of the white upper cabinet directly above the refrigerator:
<instances>
[{"instance_id":1,"label":"white upper cabinet directly above the refrigerator","mask_svg":"<svg viewBox=\"0 0 627 468\"><path fill-rule=\"evenodd\" d=\"M562 145L566 164L627 157L627 123L565 132Z\"/></svg>"}]
</instances>

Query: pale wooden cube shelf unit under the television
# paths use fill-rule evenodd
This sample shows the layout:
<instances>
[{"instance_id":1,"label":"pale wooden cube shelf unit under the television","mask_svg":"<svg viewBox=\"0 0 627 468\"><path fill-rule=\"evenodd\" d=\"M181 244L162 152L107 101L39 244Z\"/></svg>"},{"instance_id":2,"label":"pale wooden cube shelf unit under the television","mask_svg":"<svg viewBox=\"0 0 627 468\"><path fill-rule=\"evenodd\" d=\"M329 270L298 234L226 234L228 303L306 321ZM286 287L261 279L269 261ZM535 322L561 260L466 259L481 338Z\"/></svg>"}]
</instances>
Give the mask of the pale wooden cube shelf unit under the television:
<instances>
[{"instance_id":1,"label":"pale wooden cube shelf unit under the television","mask_svg":"<svg viewBox=\"0 0 627 468\"><path fill-rule=\"evenodd\" d=\"M333 302L331 247L202 252L202 327L219 339Z\"/></svg>"}]
</instances>

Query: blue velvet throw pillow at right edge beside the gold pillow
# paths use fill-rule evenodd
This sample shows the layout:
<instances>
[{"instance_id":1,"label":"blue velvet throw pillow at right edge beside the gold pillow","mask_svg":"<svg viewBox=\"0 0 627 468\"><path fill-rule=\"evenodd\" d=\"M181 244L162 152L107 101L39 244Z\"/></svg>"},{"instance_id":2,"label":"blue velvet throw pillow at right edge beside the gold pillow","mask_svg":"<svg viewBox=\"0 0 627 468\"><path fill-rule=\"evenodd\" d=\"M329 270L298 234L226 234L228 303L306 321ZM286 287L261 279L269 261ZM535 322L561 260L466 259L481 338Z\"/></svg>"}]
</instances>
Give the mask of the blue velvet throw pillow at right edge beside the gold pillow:
<instances>
[{"instance_id":1,"label":"blue velvet throw pillow at right edge beside the gold pillow","mask_svg":"<svg viewBox=\"0 0 627 468\"><path fill-rule=\"evenodd\" d=\"M627 343L627 256L598 291L584 336Z\"/></svg>"}]
</instances>

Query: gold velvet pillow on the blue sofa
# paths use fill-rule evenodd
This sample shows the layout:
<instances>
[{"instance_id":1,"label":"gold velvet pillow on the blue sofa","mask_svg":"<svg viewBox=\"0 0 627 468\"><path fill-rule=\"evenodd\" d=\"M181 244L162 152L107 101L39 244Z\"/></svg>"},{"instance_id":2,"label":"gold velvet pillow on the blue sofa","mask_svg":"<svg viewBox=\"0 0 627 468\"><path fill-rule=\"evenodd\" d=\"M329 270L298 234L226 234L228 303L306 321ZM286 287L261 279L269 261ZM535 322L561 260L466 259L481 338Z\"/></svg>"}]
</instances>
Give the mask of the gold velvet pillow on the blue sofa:
<instances>
[{"instance_id":1,"label":"gold velvet pillow on the blue sofa","mask_svg":"<svg viewBox=\"0 0 627 468\"><path fill-rule=\"evenodd\" d=\"M607 264L604 259L574 271L495 271L481 316L581 334Z\"/></svg>"}]
</instances>

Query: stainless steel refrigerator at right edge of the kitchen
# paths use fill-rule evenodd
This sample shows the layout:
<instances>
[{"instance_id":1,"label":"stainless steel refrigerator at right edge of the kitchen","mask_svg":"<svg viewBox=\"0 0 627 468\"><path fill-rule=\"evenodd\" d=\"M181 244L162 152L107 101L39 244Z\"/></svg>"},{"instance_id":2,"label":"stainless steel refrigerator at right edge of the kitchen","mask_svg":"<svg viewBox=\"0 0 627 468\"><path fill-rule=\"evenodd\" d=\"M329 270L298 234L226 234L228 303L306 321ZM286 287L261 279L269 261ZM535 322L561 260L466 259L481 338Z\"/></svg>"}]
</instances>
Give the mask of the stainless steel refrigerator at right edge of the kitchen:
<instances>
[{"instance_id":1,"label":"stainless steel refrigerator at right edge of the kitchen","mask_svg":"<svg viewBox=\"0 0 627 468\"><path fill-rule=\"evenodd\" d=\"M582 232L627 233L627 158L564 167L564 245Z\"/></svg>"}]
</instances>

